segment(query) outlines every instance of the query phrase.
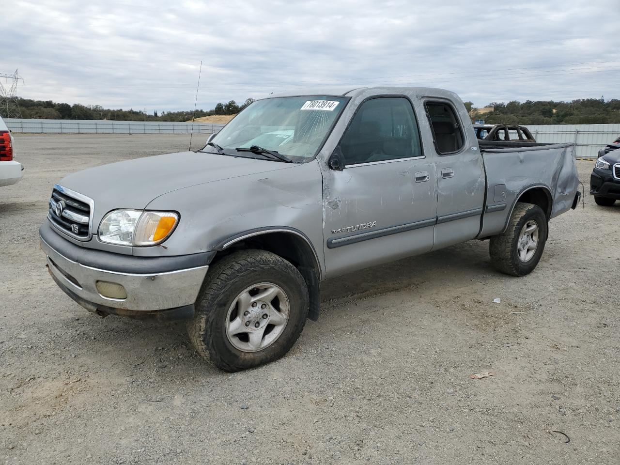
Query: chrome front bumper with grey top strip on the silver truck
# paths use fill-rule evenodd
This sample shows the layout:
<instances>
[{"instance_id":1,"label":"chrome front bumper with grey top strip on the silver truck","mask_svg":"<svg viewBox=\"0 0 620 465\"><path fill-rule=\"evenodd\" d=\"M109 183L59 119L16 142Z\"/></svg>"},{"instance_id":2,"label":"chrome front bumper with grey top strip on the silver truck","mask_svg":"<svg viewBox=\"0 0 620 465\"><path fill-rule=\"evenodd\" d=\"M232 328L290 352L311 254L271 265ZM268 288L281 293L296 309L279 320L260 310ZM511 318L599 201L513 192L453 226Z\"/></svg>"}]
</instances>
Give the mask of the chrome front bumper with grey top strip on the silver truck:
<instances>
[{"instance_id":1,"label":"chrome front bumper with grey top strip on the silver truck","mask_svg":"<svg viewBox=\"0 0 620 465\"><path fill-rule=\"evenodd\" d=\"M208 263L215 255L133 257L76 246L47 222L39 233L48 270L58 286L82 307L104 315L192 317ZM97 290L97 281L123 286L126 298L105 297Z\"/></svg>"}]
</instances>

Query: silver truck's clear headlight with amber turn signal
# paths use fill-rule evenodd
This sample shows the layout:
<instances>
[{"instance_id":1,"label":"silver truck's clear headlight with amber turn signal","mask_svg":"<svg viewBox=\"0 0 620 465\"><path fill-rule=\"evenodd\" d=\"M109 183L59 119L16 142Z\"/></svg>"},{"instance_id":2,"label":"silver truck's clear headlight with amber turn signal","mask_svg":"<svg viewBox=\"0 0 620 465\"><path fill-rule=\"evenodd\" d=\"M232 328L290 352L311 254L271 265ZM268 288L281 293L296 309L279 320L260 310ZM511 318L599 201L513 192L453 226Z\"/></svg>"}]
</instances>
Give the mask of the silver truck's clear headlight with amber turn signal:
<instances>
[{"instance_id":1,"label":"silver truck's clear headlight with amber turn signal","mask_svg":"<svg viewBox=\"0 0 620 465\"><path fill-rule=\"evenodd\" d=\"M102 219L99 239L121 246L154 246L170 236L178 221L172 211L114 210Z\"/></svg>"}]
</instances>

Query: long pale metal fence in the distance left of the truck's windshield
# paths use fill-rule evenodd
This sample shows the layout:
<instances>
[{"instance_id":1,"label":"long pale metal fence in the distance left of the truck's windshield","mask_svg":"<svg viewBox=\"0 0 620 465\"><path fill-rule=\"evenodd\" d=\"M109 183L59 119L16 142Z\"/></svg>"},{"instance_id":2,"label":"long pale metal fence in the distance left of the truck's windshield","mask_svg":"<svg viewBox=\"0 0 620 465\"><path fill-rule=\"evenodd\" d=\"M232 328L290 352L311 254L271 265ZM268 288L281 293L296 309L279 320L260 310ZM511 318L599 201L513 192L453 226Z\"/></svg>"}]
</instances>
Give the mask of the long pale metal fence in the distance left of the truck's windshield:
<instances>
[{"instance_id":1,"label":"long pale metal fence in the distance left of the truck's windshield","mask_svg":"<svg viewBox=\"0 0 620 465\"><path fill-rule=\"evenodd\" d=\"M35 134L188 134L192 123L167 121L105 121L105 120L38 120L6 118L4 120L15 133ZM196 134L218 132L224 125L194 123Z\"/></svg>"}]
</instances>

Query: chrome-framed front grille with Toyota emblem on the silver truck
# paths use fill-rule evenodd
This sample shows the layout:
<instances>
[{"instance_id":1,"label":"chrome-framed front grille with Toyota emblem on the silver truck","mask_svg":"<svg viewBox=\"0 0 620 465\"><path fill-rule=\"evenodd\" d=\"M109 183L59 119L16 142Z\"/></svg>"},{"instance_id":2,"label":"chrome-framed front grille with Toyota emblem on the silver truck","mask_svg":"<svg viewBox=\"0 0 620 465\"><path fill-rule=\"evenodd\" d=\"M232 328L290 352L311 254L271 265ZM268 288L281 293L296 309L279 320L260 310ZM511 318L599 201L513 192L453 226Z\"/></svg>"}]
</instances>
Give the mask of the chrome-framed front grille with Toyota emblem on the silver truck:
<instances>
[{"instance_id":1,"label":"chrome-framed front grille with Toyota emblem on the silver truck","mask_svg":"<svg viewBox=\"0 0 620 465\"><path fill-rule=\"evenodd\" d=\"M91 198L56 184L51 192L47 218L64 234L88 241L92 236L93 209Z\"/></svg>"}]
</instances>

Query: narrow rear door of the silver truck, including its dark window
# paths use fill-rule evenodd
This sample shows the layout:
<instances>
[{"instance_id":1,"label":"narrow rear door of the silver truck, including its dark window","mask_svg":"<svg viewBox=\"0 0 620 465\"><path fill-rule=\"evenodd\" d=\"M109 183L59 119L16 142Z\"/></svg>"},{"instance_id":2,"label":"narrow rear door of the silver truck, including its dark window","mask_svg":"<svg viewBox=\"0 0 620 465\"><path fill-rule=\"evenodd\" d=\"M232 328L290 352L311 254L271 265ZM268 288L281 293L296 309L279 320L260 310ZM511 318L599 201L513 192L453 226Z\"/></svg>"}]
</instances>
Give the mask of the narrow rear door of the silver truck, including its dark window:
<instances>
[{"instance_id":1,"label":"narrow rear door of the silver truck, including its dark window","mask_svg":"<svg viewBox=\"0 0 620 465\"><path fill-rule=\"evenodd\" d=\"M437 172L437 224L433 250L474 239L480 231L485 178L477 141L469 140L451 102L425 100Z\"/></svg>"}]
</instances>

